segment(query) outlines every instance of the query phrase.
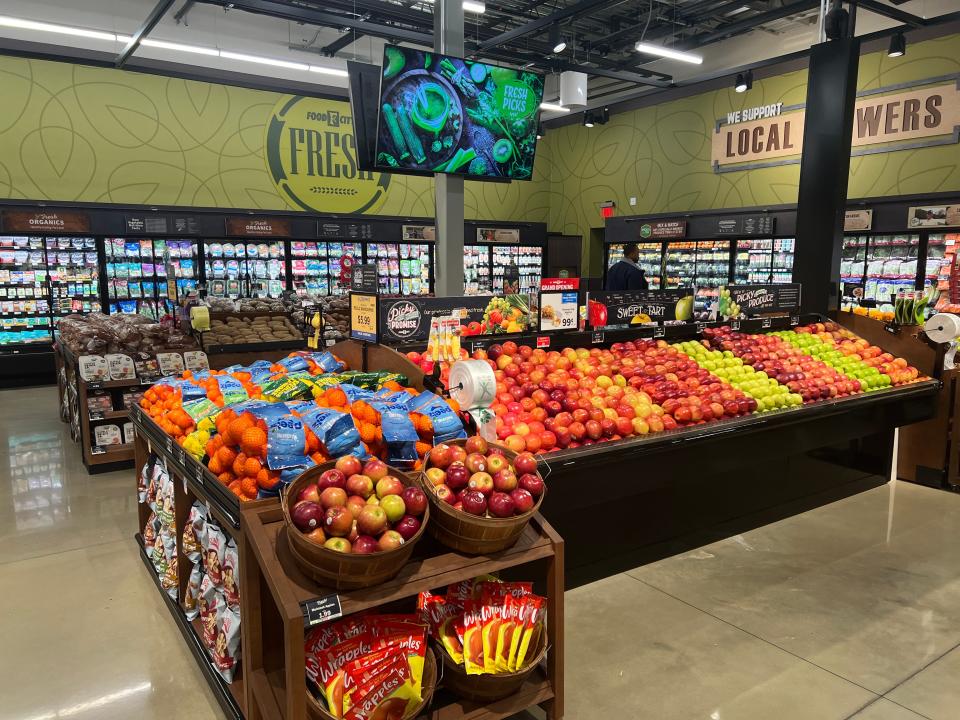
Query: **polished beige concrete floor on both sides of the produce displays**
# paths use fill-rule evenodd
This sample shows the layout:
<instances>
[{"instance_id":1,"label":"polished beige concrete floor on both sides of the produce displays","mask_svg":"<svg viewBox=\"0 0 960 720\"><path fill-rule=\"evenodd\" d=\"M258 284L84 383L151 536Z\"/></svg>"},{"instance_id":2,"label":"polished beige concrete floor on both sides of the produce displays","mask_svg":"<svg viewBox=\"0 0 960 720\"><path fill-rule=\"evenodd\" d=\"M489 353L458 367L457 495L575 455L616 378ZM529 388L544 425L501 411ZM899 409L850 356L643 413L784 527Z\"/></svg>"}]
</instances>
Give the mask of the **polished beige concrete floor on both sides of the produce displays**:
<instances>
[{"instance_id":1,"label":"polished beige concrete floor on both sides of the produce displays","mask_svg":"<svg viewBox=\"0 0 960 720\"><path fill-rule=\"evenodd\" d=\"M0 391L0 720L222 717L140 562L130 471ZM960 718L960 496L892 483L567 593L575 720Z\"/></svg>"}]
</instances>

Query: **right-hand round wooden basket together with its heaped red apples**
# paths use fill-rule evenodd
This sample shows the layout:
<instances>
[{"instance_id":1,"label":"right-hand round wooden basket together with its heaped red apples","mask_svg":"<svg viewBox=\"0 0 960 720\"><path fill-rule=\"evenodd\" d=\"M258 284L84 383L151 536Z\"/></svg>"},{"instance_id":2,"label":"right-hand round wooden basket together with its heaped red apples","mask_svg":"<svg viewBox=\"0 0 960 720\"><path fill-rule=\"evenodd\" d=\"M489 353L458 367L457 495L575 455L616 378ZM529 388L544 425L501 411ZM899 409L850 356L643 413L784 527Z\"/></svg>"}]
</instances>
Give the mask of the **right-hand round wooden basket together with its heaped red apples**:
<instances>
[{"instance_id":1,"label":"right-hand round wooden basket together with its heaped red apples","mask_svg":"<svg viewBox=\"0 0 960 720\"><path fill-rule=\"evenodd\" d=\"M435 445L420 483L430 499L430 534L462 553L511 547L540 509L546 486L532 453L474 436Z\"/></svg>"}]
</instances>

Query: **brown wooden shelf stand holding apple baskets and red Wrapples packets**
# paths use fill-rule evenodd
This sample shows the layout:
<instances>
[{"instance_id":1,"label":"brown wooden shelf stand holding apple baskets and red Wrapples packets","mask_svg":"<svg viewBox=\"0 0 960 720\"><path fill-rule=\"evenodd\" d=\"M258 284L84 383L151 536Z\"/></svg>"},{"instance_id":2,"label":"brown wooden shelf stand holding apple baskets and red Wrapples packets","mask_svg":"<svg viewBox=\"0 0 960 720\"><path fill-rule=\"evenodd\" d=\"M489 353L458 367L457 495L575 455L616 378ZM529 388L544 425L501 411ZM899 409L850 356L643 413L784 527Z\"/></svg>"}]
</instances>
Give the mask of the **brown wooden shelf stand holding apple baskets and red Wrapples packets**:
<instances>
[{"instance_id":1,"label":"brown wooden shelf stand holding apple baskets and red Wrapples packets","mask_svg":"<svg viewBox=\"0 0 960 720\"><path fill-rule=\"evenodd\" d=\"M316 611L333 598L344 616L375 608L410 612L422 591L442 590L449 584L495 572L533 580L549 598L544 663L516 694L489 705L458 700L443 690L441 681L421 717L496 720L535 705L541 706L551 720L563 717L563 540L542 516L533 518L516 545L491 555L463 555L425 536L417 544L413 559L394 579L339 593L318 585L294 564L279 506L245 505L241 527L240 597L248 720L310 717L304 638L309 628L322 622Z\"/></svg>"}]
</instances>

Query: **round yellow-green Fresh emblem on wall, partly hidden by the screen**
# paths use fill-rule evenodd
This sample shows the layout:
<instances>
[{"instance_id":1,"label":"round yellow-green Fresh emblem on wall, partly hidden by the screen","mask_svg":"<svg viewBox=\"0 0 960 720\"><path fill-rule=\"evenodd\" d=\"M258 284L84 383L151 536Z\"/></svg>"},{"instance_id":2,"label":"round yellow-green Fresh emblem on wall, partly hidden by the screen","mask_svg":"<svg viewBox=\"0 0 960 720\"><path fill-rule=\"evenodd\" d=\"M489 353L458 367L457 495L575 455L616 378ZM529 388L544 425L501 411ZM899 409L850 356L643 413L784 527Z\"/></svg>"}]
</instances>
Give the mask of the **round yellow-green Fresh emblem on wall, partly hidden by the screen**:
<instances>
[{"instance_id":1,"label":"round yellow-green Fresh emblem on wall, partly hidden by the screen","mask_svg":"<svg viewBox=\"0 0 960 720\"><path fill-rule=\"evenodd\" d=\"M343 102L283 96L264 138L267 171L290 205L308 212L366 213L382 203L388 173L361 170L353 117Z\"/></svg>"}]
</instances>

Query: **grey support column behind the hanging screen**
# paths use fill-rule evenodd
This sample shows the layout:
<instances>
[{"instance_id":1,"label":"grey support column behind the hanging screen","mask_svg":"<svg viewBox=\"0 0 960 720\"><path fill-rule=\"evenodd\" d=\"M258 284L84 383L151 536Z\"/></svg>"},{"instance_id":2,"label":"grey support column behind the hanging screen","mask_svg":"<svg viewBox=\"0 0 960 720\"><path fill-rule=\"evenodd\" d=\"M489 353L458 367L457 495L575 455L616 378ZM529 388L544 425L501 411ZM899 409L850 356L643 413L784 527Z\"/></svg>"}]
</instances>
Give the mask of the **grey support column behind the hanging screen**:
<instances>
[{"instance_id":1,"label":"grey support column behind the hanging screen","mask_svg":"<svg viewBox=\"0 0 960 720\"><path fill-rule=\"evenodd\" d=\"M433 49L463 57L463 0L436 0L433 6ZM434 174L437 206L438 296L463 295L463 177Z\"/></svg>"}]
</instances>

